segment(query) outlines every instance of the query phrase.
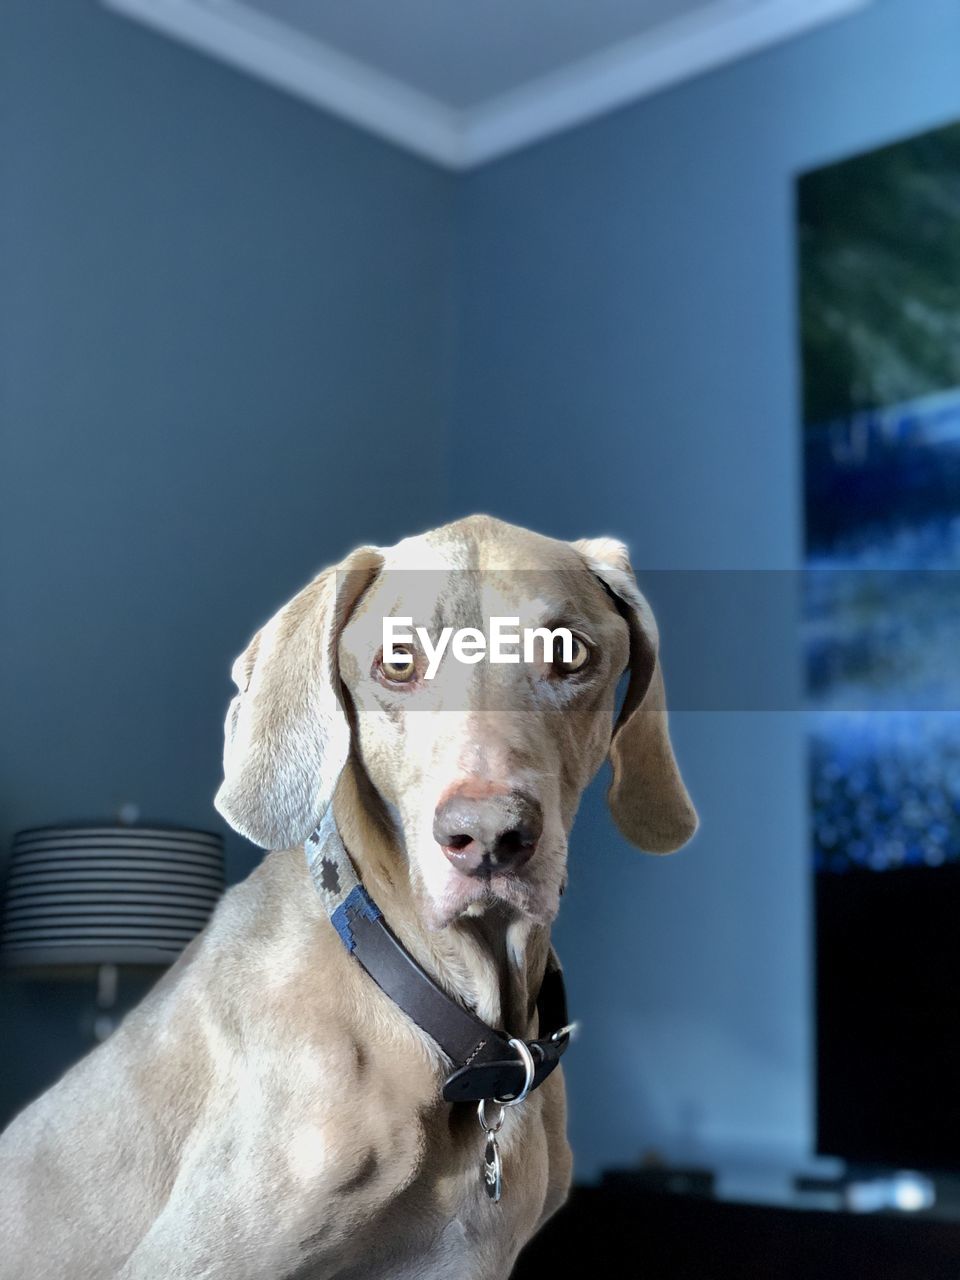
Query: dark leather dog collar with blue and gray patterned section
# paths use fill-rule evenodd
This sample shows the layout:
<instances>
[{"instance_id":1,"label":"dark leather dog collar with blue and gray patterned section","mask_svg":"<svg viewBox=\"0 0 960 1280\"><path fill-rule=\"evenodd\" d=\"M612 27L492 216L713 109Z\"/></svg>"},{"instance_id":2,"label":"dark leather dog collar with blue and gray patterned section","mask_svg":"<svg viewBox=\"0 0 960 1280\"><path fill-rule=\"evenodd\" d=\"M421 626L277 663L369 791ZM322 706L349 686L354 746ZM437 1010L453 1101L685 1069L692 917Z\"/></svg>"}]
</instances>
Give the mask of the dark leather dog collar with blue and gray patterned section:
<instances>
[{"instance_id":1,"label":"dark leather dog collar with blue and gray patterned section","mask_svg":"<svg viewBox=\"0 0 960 1280\"><path fill-rule=\"evenodd\" d=\"M383 911L360 883L337 831L333 806L306 841L305 851L314 883L343 945L378 987L451 1059L453 1070L443 1084L444 1100L511 1100L524 1092L527 1068L511 1038L448 996L389 928ZM553 948L536 1011L540 1037L524 1042L534 1062L530 1089L543 1084L570 1043L563 973Z\"/></svg>"}]
</instances>

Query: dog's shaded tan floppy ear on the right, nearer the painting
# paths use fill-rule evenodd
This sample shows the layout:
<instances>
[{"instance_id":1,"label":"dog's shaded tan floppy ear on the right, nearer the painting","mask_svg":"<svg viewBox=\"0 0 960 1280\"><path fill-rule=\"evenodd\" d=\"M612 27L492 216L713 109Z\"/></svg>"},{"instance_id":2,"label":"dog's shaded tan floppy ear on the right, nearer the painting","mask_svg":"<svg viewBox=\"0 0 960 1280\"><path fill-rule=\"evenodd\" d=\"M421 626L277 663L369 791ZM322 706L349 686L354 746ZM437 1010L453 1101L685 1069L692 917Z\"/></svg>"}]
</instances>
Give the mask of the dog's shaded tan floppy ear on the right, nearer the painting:
<instances>
[{"instance_id":1,"label":"dog's shaded tan floppy ear on the right, nearer the painting","mask_svg":"<svg viewBox=\"0 0 960 1280\"><path fill-rule=\"evenodd\" d=\"M669 741L657 623L622 543L584 538L573 545L630 627L630 685L613 726L607 801L631 844L650 854L669 854L690 840L698 818Z\"/></svg>"}]
</instances>

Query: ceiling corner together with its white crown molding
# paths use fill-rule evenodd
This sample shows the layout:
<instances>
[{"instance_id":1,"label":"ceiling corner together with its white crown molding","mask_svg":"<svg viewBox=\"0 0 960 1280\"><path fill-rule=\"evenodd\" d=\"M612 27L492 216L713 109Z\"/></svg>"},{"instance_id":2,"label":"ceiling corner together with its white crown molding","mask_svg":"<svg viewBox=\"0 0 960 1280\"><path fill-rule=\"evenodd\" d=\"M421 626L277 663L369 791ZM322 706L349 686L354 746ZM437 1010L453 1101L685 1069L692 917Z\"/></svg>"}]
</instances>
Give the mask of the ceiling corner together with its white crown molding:
<instances>
[{"instance_id":1,"label":"ceiling corner together with its white crown molding","mask_svg":"<svg viewBox=\"0 0 960 1280\"><path fill-rule=\"evenodd\" d=\"M467 169L872 0L102 0Z\"/></svg>"}]
</instances>

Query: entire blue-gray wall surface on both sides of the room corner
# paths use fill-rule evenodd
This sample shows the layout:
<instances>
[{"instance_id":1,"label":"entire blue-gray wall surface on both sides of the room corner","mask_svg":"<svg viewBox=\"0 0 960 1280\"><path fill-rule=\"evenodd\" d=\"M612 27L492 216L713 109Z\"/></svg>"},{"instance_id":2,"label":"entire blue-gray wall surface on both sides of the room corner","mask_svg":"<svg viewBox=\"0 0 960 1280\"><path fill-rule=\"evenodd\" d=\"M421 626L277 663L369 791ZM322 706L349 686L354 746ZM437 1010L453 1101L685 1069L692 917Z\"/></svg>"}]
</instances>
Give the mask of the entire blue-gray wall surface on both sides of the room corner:
<instances>
[{"instance_id":1,"label":"entire blue-gray wall surface on both sides of the room corner","mask_svg":"<svg viewBox=\"0 0 960 1280\"><path fill-rule=\"evenodd\" d=\"M488 509L641 572L797 564L794 177L960 115L955 0L458 179L92 4L8 0L0 56L3 838L215 822L229 660L357 541ZM675 723L689 851L626 849L600 787L573 841L581 1176L810 1142L801 723ZM4 1111L77 1007L5 991Z\"/></svg>"}]
</instances>

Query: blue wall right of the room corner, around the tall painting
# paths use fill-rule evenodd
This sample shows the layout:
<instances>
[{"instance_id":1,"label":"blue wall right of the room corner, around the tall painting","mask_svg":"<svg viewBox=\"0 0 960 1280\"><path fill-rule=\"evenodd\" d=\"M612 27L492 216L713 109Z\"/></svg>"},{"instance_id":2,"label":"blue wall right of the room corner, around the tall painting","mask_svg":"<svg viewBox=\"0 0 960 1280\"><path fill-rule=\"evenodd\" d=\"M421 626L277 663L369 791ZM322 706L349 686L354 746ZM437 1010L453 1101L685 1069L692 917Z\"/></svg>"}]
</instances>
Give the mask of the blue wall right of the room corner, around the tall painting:
<instances>
[{"instance_id":1,"label":"blue wall right of the room corner, around the tall painting","mask_svg":"<svg viewBox=\"0 0 960 1280\"><path fill-rule=\"evenodd\" d=\"M794 178L957 115L960 6L877 0L468 177L458 502L617 534L641 575L797 566ZM774 639L742 643L749 667ZM691 645L667 620L668 694ZM716 660L709 628L699 648ZM644 859L602 788L575 833L557 938L584 1019L581 1176L654 1146L736 1161L812 1142L803 721L673 723L694 844Z\"/></svg>"}]
</instances>

